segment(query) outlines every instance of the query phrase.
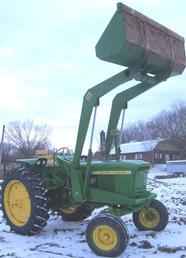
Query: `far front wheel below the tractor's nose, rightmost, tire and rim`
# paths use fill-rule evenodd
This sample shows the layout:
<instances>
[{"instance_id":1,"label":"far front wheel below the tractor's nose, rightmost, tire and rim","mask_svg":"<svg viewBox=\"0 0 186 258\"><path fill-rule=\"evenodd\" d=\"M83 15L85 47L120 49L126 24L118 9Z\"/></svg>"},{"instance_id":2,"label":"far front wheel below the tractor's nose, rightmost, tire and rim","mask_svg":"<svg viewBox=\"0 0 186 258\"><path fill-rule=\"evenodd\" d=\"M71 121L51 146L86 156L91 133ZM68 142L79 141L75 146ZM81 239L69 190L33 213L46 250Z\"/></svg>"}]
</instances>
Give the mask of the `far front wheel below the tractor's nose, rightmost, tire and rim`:
<instances>
[{"instance_id":1,"label":"far front wheel below the tractor's nose, rightmost, tire and rim","mask_svg":"<svg viewBox=\"0 0 186 258\"><path fill-rule=\"evenodd\" d=\"M133 213L133 222L139 230L162 231L168 224L168 217L163 203L152 200L148 208Z\"/></svg>"}]
</instances>

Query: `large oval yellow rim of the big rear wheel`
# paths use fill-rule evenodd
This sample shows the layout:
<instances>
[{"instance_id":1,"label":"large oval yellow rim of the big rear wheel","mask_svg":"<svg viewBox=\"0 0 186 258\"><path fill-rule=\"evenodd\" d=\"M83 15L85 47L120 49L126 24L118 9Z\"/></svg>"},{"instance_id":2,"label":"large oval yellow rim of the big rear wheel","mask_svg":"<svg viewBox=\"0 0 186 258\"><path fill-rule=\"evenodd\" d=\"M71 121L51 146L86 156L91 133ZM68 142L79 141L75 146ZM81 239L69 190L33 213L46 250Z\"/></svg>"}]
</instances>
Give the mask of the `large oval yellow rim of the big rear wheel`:
<instances>
[{"instance_id":1,"label":"large oval yellow rim of the big rear wheel","mask_svg":"<svg viewBox=\"0 0 186 258\"><path fill-rule=\"evenodd\" d=\"M31 215L31 200L25 185L11 180L4 190L4 208L9 220L16 226L24 226Z\"/></svg>"}]
</instances>

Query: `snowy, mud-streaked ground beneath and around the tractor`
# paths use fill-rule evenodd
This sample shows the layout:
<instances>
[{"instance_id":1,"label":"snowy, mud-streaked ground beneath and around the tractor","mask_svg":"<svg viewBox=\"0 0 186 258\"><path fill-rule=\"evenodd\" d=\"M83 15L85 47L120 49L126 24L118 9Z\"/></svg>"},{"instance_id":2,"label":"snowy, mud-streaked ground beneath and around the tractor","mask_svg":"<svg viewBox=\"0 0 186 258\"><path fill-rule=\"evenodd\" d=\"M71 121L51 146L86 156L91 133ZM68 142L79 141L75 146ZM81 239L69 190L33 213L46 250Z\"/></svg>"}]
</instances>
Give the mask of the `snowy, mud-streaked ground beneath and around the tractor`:
<instances>
[{"instance_id":1,"label":"snowy, mud-streaked ground beneath and around the tractor","mask_svg":"<svg viewBox=\"0 0 186 258\"><path fill-rule=\"evenodd\" d=\"M131 216L123 217L130 234L123 258L186 258L186 178L155 180L154 175L162 174L158 170L151 171L149 187L168 207L169 224L160 233L139 232ZM24 237L10 232L0 211L0 257L95 258L85 241L87 223L67 223L51 217L40 235Z\"/></svg>"}]
</instances>

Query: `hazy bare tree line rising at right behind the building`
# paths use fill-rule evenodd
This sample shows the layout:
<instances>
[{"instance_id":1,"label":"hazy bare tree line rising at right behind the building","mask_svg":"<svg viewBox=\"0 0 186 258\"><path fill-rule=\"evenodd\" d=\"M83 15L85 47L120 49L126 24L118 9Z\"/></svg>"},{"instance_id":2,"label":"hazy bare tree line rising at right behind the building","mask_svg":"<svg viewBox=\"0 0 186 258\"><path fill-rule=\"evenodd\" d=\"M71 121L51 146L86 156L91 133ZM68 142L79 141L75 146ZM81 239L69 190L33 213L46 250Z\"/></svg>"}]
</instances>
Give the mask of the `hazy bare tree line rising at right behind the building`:
<instances>
[{"instance_id":1,"label":"hazy bare tree line rising at right behind the building","mask_svg":"<svg viewBox=\"0 0 186 258\"><path fill-rule=\"evenodd\" d=\"M131 124L122 133L122 143L157 138L172 140L186 157L186 103L177 103L147 122Z\"/></svg>"}]
</instances>

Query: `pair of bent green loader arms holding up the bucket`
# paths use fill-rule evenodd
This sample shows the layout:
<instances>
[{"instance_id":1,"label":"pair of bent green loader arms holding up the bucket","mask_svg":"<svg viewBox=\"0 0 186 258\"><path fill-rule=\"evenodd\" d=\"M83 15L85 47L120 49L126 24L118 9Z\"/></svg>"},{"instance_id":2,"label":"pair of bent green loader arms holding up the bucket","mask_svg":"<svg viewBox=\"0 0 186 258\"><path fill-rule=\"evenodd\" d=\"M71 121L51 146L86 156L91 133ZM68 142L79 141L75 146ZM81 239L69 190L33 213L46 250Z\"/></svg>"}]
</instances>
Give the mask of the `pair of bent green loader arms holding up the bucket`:
<instances>
[{"instance_id":1,"label":"pair of bent green loader arms holding up the bucket","mask_svg":"<svg viewBox=\"0 0 186 258\"><path fill-rule=\"evenodd\" d=\"M157 85L161 81L165 80L168 77L168 75L169 74L164 74L162 76L159 75L156 77L150 77L148 75L143 75L142 72L137 72L137 70L135 69L126 69L112 76L111 78L103 81L102 83L90 88L86 92L83 100L78 135L76 140L75 154L73 158L73 167L78 168L80 165L80 157L86 139L92 111L94 107L99 105L99 99L101 97L103 97L105 94L112 91L119 85L131 81L132 79L142 81L142 83L139 83L138 85L130 89L127 89L122 93L119 93L113 100L106 144L107 153L109 153L113 140L111 134L113 129L117 127L119 116L121 110L124 108L124 105L126 105L126 103L129 100L135 98L136 96L142 94L143 92Z\"/></svg>"}]
</instances>

